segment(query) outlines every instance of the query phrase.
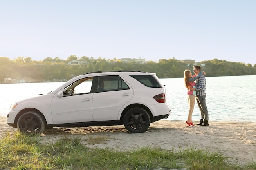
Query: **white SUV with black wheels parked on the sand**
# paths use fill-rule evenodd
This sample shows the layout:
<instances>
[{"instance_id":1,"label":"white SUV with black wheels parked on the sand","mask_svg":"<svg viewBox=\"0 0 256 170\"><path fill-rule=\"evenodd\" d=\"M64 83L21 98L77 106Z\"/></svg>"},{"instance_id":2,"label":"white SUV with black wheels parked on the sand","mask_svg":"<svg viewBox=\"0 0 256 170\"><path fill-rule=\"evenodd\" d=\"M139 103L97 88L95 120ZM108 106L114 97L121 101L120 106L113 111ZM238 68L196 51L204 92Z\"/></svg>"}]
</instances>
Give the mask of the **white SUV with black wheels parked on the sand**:
<instances>
[{"instance_id":1,"label":"white SUV with black wheels parked on the sand","mask_svg":"<svg viewBox=\"0 0 256 170\"><path fill-rule=\"evenodd\" d=\"M143 133L151 122L167 118L166 90L155 73L97 71L79 75L47 94L11 105L7 123L20 132L45 128L124 124Z\"/></svg>"}]
</instances>

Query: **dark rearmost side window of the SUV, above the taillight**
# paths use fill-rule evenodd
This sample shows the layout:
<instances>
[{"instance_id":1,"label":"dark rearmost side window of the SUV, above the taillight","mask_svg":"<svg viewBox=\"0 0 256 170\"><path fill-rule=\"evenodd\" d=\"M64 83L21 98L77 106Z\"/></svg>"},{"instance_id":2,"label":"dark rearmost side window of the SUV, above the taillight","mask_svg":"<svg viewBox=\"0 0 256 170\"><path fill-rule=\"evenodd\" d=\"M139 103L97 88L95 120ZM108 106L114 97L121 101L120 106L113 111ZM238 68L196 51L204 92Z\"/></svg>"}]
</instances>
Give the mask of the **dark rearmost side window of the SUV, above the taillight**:
<instances>
[{"instance_id":1,"label":"dark rearmost side window of the SUV, above the taillight","mask_svg":"<svg viewBox=\"0 0 256 170\"><path fill-rule=\"evenodd\" d=\"M141 84L147 87L163 88L162 83L159 81L156 75L130 75L131 77L138 80Z\"/></svg>"}]
</instances>

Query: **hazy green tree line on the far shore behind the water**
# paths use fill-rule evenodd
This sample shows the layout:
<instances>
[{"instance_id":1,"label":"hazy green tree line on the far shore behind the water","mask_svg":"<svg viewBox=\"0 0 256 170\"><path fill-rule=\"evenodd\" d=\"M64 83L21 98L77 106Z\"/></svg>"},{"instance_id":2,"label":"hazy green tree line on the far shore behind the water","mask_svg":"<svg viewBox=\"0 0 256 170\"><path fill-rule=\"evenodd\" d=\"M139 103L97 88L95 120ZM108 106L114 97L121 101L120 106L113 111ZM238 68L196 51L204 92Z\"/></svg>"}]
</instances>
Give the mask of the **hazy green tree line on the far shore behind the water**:
<instances>
[{"instance_id":1,"label":"hazy green tree line on the far shore behind the water","mask_svg":"<svg viewBox=\"0 0 256 170\"><path fill-rule=\"evenodd\" d=\"M30 57L18 57L10 60L8 57L0 57L0 82L4 78L31 79L43 81L60 81L68 80L74 76L81 75L92 71L102 70L137 70L156 73L159 78L178 78L183 77L184 70L190 69L193 72L193 66L187 66L180 60L161 59L158 63L148 61L146 64L136 62L124 63L121 60L105 60L99 57L91 60L88 57L81 57L88 61L87 65L68 65L72 60L78 60L76 55L71 55L67 60L61 60L58 57L52 59L45 58L42 61L32 60ZM208 77L215 76L236 76L236 75L256 75L256 64L240 62L227 62L226 60L205 60L200 62L205 64L202 70L207 73Z\"/></svg>"}]
</instances>

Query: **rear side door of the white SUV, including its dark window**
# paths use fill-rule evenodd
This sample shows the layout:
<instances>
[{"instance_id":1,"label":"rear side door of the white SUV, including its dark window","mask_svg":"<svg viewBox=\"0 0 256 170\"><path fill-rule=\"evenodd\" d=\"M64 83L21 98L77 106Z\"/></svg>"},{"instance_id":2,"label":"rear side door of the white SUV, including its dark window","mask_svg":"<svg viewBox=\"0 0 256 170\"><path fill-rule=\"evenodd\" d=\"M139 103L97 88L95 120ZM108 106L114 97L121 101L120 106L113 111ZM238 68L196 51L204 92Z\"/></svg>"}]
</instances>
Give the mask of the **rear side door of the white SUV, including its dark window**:
<instances>
[{"instance_id":1,"label":"rear side door of the white SUV, including its dark window","mask_svg":"<svg viewBox=\"0 0 256 170\"><path fill-rule=\"evenodd\" d=\"M100 76L98 87L101 89L94 93L92 100L94 121L117 120L121 108L132 99L132 88L118 75Z\"/></svg>"}]
</instances>

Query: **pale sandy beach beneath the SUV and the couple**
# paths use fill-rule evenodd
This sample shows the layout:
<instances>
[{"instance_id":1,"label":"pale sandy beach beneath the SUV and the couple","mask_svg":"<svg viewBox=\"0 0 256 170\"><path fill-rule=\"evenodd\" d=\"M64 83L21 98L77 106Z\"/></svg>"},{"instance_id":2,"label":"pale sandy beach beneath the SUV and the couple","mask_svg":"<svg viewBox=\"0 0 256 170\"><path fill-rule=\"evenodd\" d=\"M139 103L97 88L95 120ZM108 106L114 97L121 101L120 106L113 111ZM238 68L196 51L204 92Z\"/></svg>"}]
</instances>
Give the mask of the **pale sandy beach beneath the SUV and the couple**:
<instances>
[{"instance_id":1,"label":"pale sandy beach beneath the SUV and the couple","mask_svg":"<svg viewBox=\"0 0 256 170\"><path fill-rule=\"evenodd\" d=\"M198 122L194 121L194 124ZM208 148L218 150L231 162L244 165L256 161L256 123L211 122L210 126L188 127L185 121L160 120L150 124L143 134L130 134L124 126L93 126L83 128L46 129L40 135L41 142L55 142L65 135L81 135L82 144L90 148L113 148L130 150L143 146L160 147L166 150L185 148ZM17 131L7 125L6 118L0 117L0 139L13 136ZM89 145L88 137L107 137L104 144Z\"/></svg>"}]
</instances>

